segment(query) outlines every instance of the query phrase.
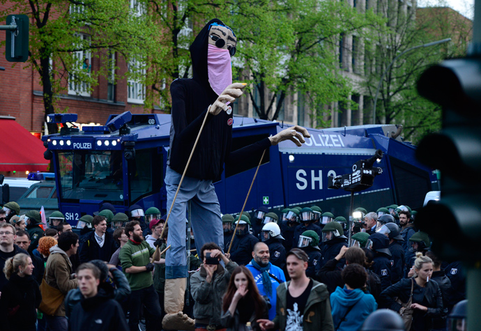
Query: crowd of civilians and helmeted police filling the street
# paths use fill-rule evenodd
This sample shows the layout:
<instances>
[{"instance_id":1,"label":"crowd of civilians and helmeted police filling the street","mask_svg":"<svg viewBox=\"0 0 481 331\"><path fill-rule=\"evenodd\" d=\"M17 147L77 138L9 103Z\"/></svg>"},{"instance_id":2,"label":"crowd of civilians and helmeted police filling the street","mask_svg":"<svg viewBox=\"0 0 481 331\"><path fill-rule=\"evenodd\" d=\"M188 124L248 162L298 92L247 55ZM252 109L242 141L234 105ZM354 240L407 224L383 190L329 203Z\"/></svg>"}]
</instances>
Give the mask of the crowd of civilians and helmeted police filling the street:
<instances>
[{"instance_id":1,"label":"crowd of civilians and helmeted police filling the street","mask_svg":"<svg viewBox=\"0 0 481 331\"><path fill-rule=\"evenodd\" d=\"M387 308L405 330L467 330L465 316L448 318L466 299L462 265L430 251L415 211L356 211L351 229L318 206L223 215L224 247L199 245L187 225L178 317L194 318L197 331L370 330L368 316ZM0 210L2 330L162 330L165 297L178 289L165 286L160 210L104 203L77 224L58 211L48 222L18 214L13 201Z\"/></svg>"}]
</instances>

